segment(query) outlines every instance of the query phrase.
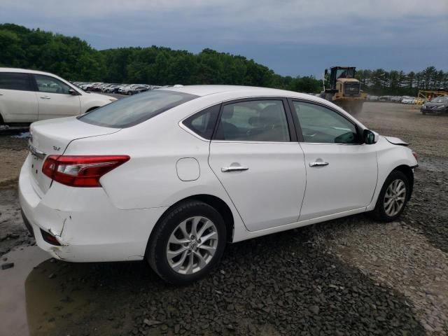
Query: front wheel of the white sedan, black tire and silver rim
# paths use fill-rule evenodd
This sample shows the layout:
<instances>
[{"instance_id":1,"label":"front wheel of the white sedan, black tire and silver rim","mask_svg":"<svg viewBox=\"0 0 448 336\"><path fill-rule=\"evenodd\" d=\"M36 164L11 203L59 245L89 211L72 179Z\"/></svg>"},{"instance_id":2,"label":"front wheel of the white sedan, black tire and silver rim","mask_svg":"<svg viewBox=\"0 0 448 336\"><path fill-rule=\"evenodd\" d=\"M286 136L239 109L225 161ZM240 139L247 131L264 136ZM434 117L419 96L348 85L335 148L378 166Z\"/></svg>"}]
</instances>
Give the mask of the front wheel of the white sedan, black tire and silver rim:
<instances>
[{"instance_id":1,"label":"front wheel of the white sedan, black tire and silver rim","mask_svg":"<svg viewBox=\"0 0 448 336\"><path fill-rule=\"evenodd\" d=\"M394 190L393 183L397 186L395 191L392 191ZM396 193L397 190L402 190L402 187L405 188L404 192L400 191ZM393 194L394 192L396 193L395 196ZM377 204L375 209L372 211L372 216L377 219L377 221L381 222L395 221L395 219L400 217L406 207L407 201L409 200L409 192L409 180L406 175L399 170L394 170L391 174L389 174L386 181L384 181L383 188L381 188L381 192L378 195ZM393 197L396 198L394 199ZM404 197L404 199L402 199L402 197ZM388 206L387 202L392 205Z\"/></svg>"}]
</instances>

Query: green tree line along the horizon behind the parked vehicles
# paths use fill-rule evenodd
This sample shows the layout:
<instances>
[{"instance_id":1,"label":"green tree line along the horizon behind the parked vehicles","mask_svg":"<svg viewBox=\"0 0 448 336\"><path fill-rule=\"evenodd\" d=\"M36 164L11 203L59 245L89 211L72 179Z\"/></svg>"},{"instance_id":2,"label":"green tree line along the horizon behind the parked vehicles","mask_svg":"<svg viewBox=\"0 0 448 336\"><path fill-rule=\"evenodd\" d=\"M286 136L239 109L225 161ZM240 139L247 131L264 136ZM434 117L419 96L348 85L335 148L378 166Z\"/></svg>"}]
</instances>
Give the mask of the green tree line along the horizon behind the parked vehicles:
<instances>
[{"instance_id":1,"label":"green tree line along the horizon behind the parked vehicles","mask_svg":"<svg viewBox=\"0 0 448 336\"><path fill-rule=\"evenodd\" d=\"M108 83L229 84L276 87L317 93L322 80L314 76L280 76L253 59L204 49L186 50L151 46L96 50L78 37L41 29L0 25L0 66L37 69L73 81ZM358 71L362 89L372 94L412 94L418 88L448 86L448 73L433 66L419 73Z\"/></svg>"}]
</instances>

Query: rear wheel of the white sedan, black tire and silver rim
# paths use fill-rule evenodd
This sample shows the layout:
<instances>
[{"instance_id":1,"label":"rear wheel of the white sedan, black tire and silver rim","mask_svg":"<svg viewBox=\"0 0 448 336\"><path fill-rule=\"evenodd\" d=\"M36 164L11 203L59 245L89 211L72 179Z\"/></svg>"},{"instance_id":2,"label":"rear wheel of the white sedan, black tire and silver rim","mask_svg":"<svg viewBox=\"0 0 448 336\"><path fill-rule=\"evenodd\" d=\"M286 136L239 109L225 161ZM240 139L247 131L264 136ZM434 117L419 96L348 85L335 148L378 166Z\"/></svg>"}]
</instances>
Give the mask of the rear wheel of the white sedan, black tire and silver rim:
<instances>
[{"instance_id":1,"label":"rear wheel of the white sedan, black tire and silver rim","mask_svg":"<svg viewBox=\"0 0 448 336\"><path fill-rule=\"evenodd\" d=\"M204 237L209 239L201 240ZM154 228L146 248L146 260L162 279L183 286L206 276L218 265L226 237L223 217L216 209L199 201L182 202Z\"/></svg>"}]
</instances>

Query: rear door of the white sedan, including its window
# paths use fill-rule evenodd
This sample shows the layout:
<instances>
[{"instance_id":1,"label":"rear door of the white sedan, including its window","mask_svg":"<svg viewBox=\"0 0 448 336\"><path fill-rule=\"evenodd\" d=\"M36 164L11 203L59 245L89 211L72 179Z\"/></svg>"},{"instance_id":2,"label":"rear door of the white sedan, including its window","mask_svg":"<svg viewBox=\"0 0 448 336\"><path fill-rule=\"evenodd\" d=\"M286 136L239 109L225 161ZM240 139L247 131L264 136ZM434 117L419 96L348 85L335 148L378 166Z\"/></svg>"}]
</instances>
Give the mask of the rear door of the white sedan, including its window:
<instances>
[{"instance_id":1,"label":"rear door of the white sedan, including its window","mask_svg":"<svg viewBox=\"0 0 448 336\"><path fill-rule=\"evenodd\" d=\"M286 99L240 99L221 107L209 165L250 231L297 221L304 157Z\"/></svg>"}]
</instances>

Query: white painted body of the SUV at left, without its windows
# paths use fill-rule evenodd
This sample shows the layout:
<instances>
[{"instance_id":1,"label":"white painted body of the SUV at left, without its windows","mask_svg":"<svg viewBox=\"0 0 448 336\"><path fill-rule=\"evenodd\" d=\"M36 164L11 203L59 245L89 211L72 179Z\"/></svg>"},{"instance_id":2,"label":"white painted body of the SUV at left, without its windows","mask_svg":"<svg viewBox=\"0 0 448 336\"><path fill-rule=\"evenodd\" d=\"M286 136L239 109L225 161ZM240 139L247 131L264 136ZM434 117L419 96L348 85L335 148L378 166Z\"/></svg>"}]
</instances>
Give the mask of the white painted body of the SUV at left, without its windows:
<instances>
[{"instance_id":1,"label":"white painted body of the SUV at left, without its windows","mask_svg":"<svg viewBox=\"0 0 448 336\"><path fill-rule=\"evenodd\" d=\"M10 90L0 86L0 116L4 123L32 123L36 120L78 116L90 109L104 106L117 99L105 94L95 94L80 90L76 85L52 73L27 69L0 68L2 73L29 74L48 76L68 85L73 94L39 92L31 85L31 90ZM31 83L31 84L34 84Z\"/></svg>"}]
</instances>

